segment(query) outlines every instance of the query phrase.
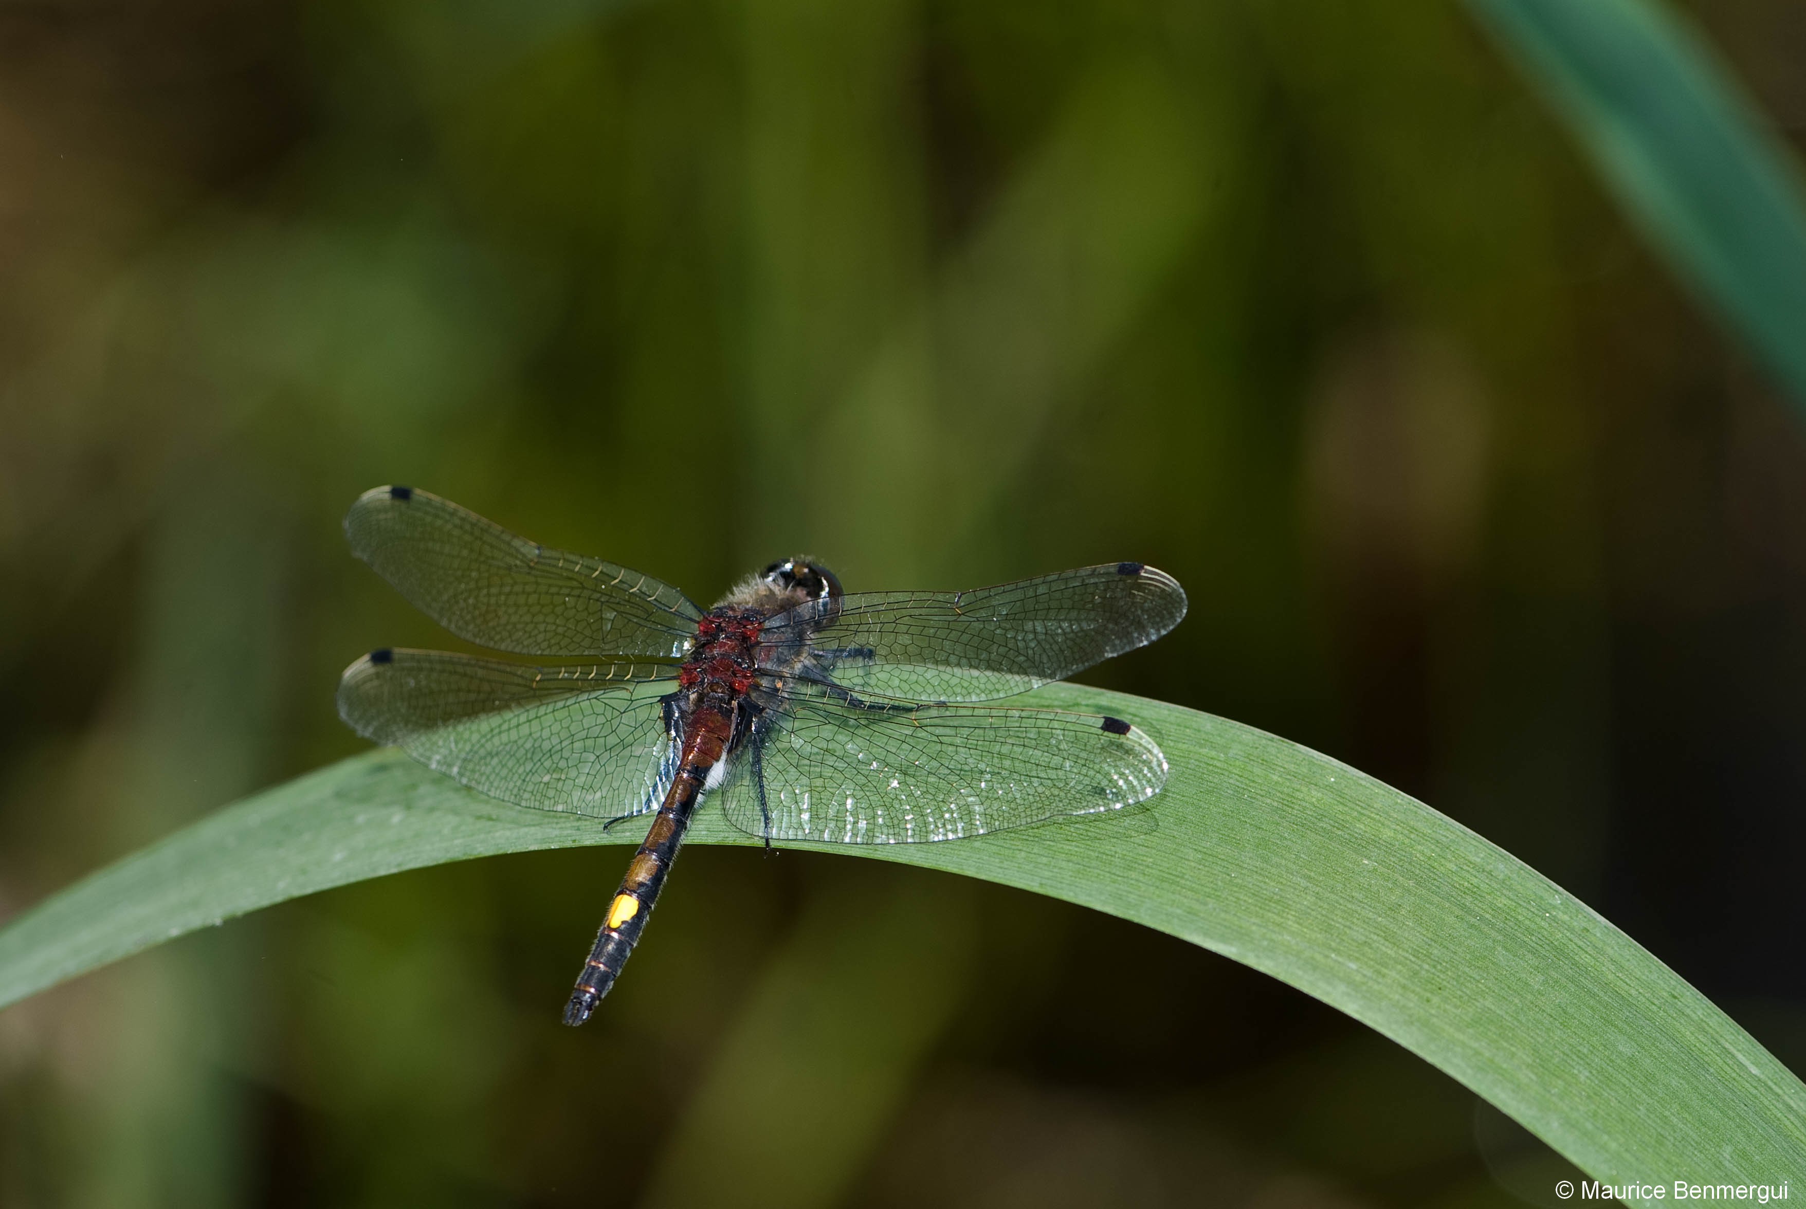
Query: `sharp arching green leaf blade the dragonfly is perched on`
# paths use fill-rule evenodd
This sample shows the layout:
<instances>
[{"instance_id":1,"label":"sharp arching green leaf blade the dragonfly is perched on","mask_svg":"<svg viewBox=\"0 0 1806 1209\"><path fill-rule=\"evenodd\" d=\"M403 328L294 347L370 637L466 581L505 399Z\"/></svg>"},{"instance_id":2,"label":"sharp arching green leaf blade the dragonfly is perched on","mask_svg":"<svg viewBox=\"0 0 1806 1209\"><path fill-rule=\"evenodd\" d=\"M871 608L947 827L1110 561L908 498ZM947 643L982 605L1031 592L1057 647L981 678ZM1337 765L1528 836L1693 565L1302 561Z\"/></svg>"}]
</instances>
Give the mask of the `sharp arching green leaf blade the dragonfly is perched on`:
<instances>
[{"instance_id":1,"label":"sharp arching green leaf blade the dragonfly is perched on","mask_svg":"<svg viewBox=\"0 0 1806 1209\"><path fill-rule=\"evenodd\" d=\"M1159 826L831 850L1055 895L1246 962L1421 1054L1600 1180L1806 1177L1806 1086L1510 854L1235 722L1067 684L1024 700L1154 734L1172 763ZM692 835L753 843L706 807ZM370 752L226 807L13 920L0 929L0 1003L327 886L632 841Z\"/></svg>"}]
</instances>

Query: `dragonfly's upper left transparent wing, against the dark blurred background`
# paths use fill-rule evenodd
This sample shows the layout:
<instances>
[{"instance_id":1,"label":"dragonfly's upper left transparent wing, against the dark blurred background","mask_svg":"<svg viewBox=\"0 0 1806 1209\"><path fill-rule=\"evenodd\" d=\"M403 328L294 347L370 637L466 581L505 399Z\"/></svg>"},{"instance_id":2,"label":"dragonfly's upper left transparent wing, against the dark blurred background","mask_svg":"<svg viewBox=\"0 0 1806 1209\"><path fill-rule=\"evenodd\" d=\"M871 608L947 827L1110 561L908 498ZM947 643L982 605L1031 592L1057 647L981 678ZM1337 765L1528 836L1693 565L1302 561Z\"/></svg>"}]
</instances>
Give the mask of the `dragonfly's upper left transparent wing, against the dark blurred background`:
<instances>
[{"instance_id":1,"label":"dragonfly's upper left transparent wing, against the dark blurred background","mask_svg":"<svg viewBox=\"0 0 1806 1209\"><path fill-rule=\"evenodd\" d=\"M365 491L345 538L423 614L498 651L679 659L703 615L666 583L517 538L428 491Z\"/></svg>"}]
</instances>

